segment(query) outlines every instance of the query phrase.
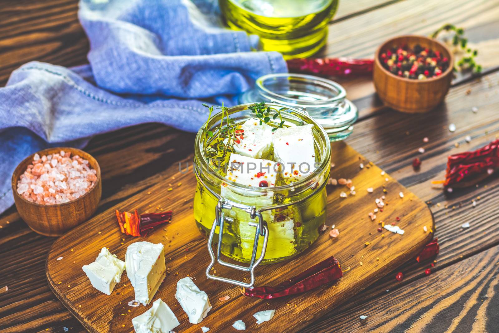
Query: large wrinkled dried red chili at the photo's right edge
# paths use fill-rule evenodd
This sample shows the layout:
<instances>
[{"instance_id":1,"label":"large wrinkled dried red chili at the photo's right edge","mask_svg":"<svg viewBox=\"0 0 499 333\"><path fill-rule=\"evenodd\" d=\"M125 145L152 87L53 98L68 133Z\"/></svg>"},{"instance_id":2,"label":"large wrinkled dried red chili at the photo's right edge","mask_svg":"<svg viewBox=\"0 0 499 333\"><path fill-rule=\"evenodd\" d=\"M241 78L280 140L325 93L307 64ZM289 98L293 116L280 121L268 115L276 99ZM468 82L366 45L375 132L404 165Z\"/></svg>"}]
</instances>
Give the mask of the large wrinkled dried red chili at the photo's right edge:
<instances>
[{"instance_id":1,"label":"large wrinkled dried red chili at the photo's right edge","mask_svg":"<svg viewBox=\"0 0 499 333\"><path fill-rule=\"evenodd\" d=\"M445 180L433 181L447 187L467 187L477 184L499 168L499 140L475 151L454 154L447 159Z\"/></svg>"}]
</instances>

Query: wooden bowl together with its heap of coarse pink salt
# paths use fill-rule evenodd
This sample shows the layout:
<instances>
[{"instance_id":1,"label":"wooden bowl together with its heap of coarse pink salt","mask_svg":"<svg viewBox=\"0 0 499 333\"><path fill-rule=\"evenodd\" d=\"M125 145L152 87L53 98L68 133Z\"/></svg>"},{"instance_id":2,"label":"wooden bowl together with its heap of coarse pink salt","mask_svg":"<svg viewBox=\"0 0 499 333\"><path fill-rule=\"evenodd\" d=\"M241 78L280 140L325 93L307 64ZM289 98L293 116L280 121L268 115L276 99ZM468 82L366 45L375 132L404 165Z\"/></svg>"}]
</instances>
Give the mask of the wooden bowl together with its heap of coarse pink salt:
<instances>
[{"instance_id":1,"label":"wooden bowl together with its heap of coarse pink salt","mask_svg":"<svg viewBox=\"0 0 499 333\"><path fill-rule=\"evenodd\" d=\"M12 193L15 207L29 228L44 236L60 236L97 210L100 167L80 149L41 150L15 168Z\"/></svg>"}]
</instances>

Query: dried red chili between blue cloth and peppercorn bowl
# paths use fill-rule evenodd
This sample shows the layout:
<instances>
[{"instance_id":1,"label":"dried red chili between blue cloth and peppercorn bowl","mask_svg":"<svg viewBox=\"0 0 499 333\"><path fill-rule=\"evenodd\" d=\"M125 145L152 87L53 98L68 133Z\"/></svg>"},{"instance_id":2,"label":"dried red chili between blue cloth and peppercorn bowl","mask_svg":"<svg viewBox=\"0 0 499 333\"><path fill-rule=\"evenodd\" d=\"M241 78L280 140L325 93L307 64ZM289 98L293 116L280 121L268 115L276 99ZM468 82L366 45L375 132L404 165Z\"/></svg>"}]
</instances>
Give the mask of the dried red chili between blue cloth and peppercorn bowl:
<instances>
[{"instance_id":1,"label":"dried red chili between blue cloth and peppercorn bowl","mask_svg":"<svg viewBox=\"0 0 499 333\"><path fill-rule=\"evenodd\" d=\"M349 76L370 74L373 63L372 59L298 58L287 60L287 68L291 73Z\"/></svg>"}]
</instances>

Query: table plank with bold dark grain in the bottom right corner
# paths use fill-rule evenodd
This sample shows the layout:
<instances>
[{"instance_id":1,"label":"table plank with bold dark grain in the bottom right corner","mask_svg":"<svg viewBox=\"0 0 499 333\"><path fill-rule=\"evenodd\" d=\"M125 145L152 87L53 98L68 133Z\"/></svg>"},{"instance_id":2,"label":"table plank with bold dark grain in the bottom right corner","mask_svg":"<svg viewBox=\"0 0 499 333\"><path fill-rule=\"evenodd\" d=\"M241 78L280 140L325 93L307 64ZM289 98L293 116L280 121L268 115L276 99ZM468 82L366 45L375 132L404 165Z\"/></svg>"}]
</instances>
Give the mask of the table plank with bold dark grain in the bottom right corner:
<instances>
[{"instance_id":1,"label":"table plank with bold dark grain in the bottom right corner","mask_svg":"<svg viewBox=\"0 0 499 333\"><path fill-rule=\"evenodd\" d=\"M416 282L393 279L388 292L301 332L499 332L498 276L496 246Z\"/></svg>"}]
</instances>

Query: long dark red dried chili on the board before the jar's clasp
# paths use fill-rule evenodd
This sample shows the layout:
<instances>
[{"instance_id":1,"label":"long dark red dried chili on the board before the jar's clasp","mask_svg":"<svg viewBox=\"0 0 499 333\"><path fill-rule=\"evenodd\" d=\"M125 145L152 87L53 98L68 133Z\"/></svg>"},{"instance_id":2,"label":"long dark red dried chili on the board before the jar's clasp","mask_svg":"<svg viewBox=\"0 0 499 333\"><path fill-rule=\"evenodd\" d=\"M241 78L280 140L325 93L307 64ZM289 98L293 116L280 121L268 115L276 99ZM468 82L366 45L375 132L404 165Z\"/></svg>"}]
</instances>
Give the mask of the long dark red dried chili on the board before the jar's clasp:
<instances>
[{"instance_id":1,"label":"long dark red dried chili on the board before the jar's clasp","mask_svg":"<svg viewBox=\"0 0 499 333\"><path fill-rule=\"evenodd\" d=\"M245 296L257 297L264 300L269 300L287 295L294 295L309 291L316 287L322 286L328 282L338 280L343 276L341 267L334 257L310 267L303 273L286 280L277 287L256 287L246 289Z\"/></svg>"}]
</instances>

